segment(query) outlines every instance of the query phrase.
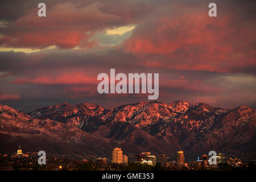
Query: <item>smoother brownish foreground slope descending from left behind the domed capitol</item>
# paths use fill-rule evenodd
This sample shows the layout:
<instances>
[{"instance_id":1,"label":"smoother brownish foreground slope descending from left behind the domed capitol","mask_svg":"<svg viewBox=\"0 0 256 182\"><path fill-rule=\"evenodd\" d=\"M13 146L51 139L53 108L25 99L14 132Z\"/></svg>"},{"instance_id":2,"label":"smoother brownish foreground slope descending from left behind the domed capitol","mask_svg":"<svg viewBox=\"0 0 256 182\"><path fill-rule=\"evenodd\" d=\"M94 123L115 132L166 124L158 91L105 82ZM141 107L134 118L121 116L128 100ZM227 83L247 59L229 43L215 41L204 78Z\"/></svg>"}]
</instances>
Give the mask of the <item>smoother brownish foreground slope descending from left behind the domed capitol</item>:
<instances>
[{"instance_id":1,"label":"smoother brownish foreground slope descending from left behind the domed capitol","mask_svg":"<svg viewBox=\"0 0 256 182\"><path fill-rule=\"evenodd\" d=\"M110 156L114 147L122 147L127 155L146 150L141 146L101 138L77 127L51 119L36 119L9 106L0 105L0 151L44 150L47 154L80 154Z\"/></svg>"}]
</instances>

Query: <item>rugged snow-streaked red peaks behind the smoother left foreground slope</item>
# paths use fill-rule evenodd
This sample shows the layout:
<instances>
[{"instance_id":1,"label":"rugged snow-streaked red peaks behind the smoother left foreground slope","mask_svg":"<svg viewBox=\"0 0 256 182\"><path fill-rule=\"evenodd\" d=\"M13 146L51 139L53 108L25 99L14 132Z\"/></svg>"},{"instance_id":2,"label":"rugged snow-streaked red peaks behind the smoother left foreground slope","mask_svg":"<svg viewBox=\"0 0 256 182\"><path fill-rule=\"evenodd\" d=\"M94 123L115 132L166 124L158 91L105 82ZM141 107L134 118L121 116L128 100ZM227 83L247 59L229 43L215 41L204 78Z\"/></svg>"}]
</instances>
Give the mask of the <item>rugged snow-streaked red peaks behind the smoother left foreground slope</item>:
<instances>
[{"instance_id":1,"label":"rugged snow-streaked red peaks behind the smoother left foreground slope","mask_svg":"<svg viewBox=\"0 0 256 182\"><path fill-rule=\"evenodd\" d=\"M52 119L97 137L136 144L149 151L253 150L255 110L232 110L176 101L138 102L107 110L95 104L42 107L31 117Z\"/></svg>"}]
</instances>

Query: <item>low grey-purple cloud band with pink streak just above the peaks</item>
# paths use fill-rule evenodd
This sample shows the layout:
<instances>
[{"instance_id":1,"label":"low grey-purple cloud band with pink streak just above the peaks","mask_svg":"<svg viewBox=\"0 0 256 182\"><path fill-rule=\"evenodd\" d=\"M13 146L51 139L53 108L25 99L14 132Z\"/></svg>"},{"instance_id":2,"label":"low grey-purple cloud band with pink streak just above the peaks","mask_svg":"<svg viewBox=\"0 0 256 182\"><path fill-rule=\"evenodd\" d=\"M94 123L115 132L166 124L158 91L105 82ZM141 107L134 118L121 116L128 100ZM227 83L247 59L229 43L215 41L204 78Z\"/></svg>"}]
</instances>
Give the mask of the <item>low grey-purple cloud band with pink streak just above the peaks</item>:
<instances>
[{"instance_id":1,"label":"low grey-purple cloud band with pink streak just above the peaks","mask_svg":"<svg viewBox=\"0 0 256 182\"><path fill-rule=\"evenodd\" d=\"M159 100L167 102L174 100L206 101L208 104L225 107L233 107L238 103L251 105L255 102L253 93L256 90L253 77L230 73L145 68L137 65L138 58L116 49L107 49L98 54L93 51L84 53L60 50L30 54L1 52L0 60L2 64L0 72L6 74L5 77L0 78L1 90L5 89L2 93L18 94L20 97L18 102L9 102L15 103L14 105L20 108L25 102L33 103L33 106L43 106L47 100L49 105L64 101L72 104L88 101L109 108L130 101L147 100L146 94L139 96L98 94L97 75L101 72L109 74L110 68L115 68L117 73L159 73ZM101 66L98 67L98 65ZM247 94L242 96L241 93L245 92ZM232 96L232 102L228 96ZM109 102L109 100L116 102ZM1 102L8 103L7 100Z\"/></svg>"}]
</instances>

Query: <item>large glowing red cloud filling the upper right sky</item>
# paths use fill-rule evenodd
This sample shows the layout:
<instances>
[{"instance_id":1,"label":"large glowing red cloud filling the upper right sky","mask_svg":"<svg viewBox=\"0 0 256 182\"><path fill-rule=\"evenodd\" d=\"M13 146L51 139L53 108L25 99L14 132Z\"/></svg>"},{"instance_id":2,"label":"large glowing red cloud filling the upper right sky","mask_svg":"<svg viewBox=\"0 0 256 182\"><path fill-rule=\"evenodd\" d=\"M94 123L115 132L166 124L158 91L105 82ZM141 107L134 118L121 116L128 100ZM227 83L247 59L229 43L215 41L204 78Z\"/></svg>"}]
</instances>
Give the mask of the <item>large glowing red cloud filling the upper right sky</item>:
<instances>
[{"instance_id":1,"label":"large glowing red cloud filling the upper right sky","mask_svg":"<svg viewBox=\"0 0 256 182\"><path fill-rule=\"evenodd\" d=\"M182 5L183 11L161 9L139 24L122 48L141 57L138 64L145 67L210 72L255 67L255 18L238 18L248 14L247 5L220 3L216 18L210 18L204 6L195 2L192 7Z\"/></svg>"}]
</instances>

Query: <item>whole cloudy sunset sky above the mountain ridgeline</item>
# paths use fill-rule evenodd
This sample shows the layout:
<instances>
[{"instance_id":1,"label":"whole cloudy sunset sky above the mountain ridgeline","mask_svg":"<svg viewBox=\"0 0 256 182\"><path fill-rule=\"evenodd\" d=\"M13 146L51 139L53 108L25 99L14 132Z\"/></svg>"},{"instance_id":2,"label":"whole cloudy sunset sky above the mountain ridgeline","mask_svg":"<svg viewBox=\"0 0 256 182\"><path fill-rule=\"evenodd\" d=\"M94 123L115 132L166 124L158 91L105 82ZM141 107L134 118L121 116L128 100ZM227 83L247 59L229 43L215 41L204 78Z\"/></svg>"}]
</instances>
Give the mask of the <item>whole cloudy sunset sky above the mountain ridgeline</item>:
<instances>
[{"instance_id":1,"label":"whole cloudy sunset sky above the mountain ridgeline","mask_svg":"<svg viewBox=\"0 0 256 182\"><path fill-rule=\"evenodd\" d=\"M38 16L38 3L46 17ZM209 17L215 2L217 16ZM159 73L158 101L256 108L255 1L1 0L0 104L108 109L148 94L99 94L100 73Z\"/></svg>"}]
</instances>

